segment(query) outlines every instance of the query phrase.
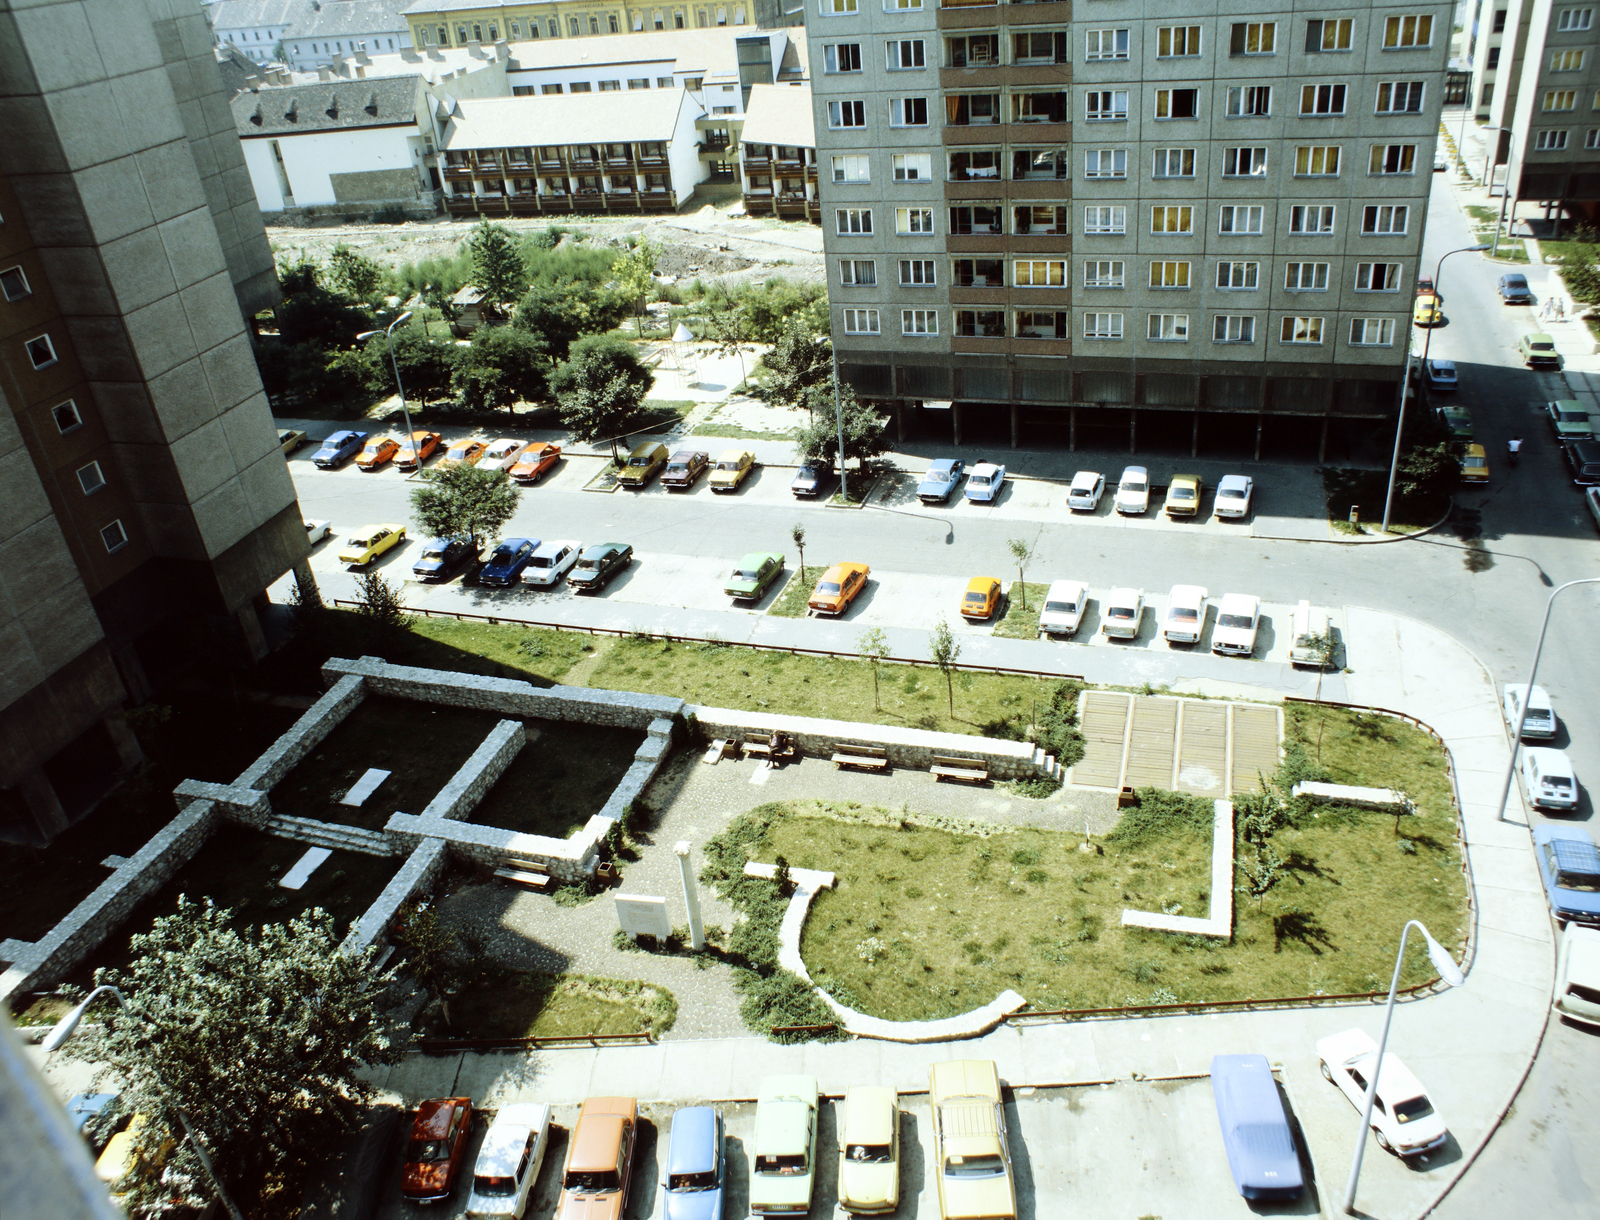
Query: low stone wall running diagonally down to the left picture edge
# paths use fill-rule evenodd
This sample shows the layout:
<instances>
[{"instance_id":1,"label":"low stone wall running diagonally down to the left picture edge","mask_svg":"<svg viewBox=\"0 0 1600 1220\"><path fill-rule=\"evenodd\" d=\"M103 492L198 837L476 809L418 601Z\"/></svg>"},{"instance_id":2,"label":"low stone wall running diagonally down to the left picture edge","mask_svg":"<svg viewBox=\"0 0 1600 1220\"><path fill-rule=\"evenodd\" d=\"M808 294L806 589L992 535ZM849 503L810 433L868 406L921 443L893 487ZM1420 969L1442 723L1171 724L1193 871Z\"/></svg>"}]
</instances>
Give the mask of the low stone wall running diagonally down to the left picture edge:
<instances>
[{"instance_id":1,"label":"low stone wall running diagonally down to the left picture edge","mask_svg":"<svg viewBox=\"0 0 1600 1220\"><path fill-rule=\"evenodd\" d=\"M0 975L0 1001L18 991L53 986L82 962L128 913L155 893L206 841L221 812L208 801L189 804L72 908L42 940L27 945ZM16 941L6 941L16 946ZM6 949L13 953L13 949Z\"/></svg>"}]
</instances>

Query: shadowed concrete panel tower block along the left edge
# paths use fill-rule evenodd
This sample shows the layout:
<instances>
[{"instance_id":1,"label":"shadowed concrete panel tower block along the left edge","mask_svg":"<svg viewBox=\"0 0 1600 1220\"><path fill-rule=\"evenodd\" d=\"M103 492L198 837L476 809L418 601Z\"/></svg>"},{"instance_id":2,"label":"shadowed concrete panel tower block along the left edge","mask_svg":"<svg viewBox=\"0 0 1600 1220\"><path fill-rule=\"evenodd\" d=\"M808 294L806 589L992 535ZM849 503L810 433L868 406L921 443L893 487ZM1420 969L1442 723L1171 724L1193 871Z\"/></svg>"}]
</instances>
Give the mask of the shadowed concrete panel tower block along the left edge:
<instances>
[{"instance_id":1,"label":"shadowed concrete panel tower block along the left edge","mask_svg":"<svg viewBox=\"0 0 1600 1220\"><path fill-rule=\"evenodd\" d=\"M0 821L48 837L136 760L118 709L264 650L258 602L307 546L205 16L0 2Z\"/></svg>"}]
</instances>

